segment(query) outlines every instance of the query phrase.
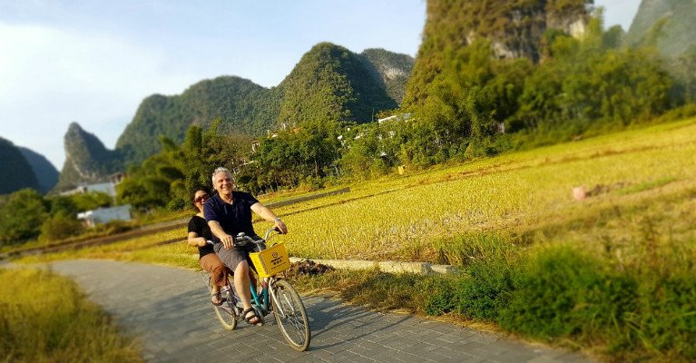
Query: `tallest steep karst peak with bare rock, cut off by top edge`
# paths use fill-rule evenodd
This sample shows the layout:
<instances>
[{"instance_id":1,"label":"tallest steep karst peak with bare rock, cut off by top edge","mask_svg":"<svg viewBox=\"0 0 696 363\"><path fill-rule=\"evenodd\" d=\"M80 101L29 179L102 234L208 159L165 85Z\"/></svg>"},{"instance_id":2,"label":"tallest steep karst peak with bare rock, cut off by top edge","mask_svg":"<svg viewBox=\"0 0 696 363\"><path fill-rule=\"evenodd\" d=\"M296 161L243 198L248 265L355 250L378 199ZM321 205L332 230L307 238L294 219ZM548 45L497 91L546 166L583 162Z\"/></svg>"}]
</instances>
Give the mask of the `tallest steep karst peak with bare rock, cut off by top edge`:
<instances>
[{"instance_id":1,"label":"tallest steep karst peak with bare rock, cut off by top edge","mask_svg":"<svg viewBox=\"0 0 696 363\"><path fill-rule=\"evenodd\" d=\"M427 2L423 42L418 49L413 75L407 83L404 106L425 102L433 82L456 60L456 52L476 40L493 44L496 58L524 57L534 63L542 57L547 29L570 31L570 25L586 25L585 5L592 1L441 1Z\"/></svg>"}]
</instances>

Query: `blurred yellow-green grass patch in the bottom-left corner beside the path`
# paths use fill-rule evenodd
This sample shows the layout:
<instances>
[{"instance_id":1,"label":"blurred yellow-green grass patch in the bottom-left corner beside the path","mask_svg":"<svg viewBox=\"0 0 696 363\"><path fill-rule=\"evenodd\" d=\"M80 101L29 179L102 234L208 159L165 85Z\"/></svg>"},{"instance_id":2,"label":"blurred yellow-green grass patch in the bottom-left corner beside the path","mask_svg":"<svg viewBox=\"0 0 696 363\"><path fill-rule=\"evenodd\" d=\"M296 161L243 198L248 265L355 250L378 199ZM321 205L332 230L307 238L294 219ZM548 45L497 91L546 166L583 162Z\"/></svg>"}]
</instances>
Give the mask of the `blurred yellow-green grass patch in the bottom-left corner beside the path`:
<instances>
[{"instance_id":1,"label":"blurred yellow-green grass patch in the bottom-left corner beside the path","mask_svg":"<svg viewBox=\"0 0 696 363\"><path fill-rule=\"evenodd\" d=\"M12 362L137 362L74 281L42 270L0 270L0 357Z\"/></svg>"}]
</instances>

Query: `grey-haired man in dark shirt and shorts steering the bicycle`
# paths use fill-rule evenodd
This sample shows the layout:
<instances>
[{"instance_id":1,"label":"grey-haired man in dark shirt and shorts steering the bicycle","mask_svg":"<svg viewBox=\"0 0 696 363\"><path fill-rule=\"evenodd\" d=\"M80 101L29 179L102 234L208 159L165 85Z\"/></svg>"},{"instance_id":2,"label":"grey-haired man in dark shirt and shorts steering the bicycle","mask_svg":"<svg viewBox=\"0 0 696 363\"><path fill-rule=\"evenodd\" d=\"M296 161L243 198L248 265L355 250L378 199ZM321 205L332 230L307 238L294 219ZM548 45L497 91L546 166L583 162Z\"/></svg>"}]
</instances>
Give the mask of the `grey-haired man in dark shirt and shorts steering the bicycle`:
<instances>
[{"instance_id":1,"label":"grey-haired man in dark shirt and shorts steering the bicycle","mask_svg":"<svg viewBox=\"0 0 696 363\"><path fill-rule=\"evenodd\" d=\"M234 272L234 288L239 294L244 309L242 317L251 325L259 324L261 318L251 307L249 290L249 268L252 266L249 253L254 251L255 246L253 244L235 245L234 238L240 232L248 236L256 236L251 225L251 211L266 221L273 221L280 233L287 233L288 227L273 211L251 194L233 191L232 175L226 168L215 169L212 173L212 186L217 194L205 202L203 214L212 231L215 242L213 248L222 263Z\"/></svg>"}]
</instances>

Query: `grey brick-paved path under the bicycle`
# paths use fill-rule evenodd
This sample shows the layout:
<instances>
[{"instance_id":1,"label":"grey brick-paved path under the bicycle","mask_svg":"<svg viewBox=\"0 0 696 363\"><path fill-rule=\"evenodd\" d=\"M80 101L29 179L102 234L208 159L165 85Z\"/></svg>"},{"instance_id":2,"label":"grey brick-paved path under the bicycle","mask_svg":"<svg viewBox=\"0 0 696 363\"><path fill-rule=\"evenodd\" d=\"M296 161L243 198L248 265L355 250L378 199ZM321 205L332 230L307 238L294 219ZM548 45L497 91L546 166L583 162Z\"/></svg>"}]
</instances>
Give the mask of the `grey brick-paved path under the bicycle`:
<instances>
[{"instance_id":1,"label":"grey brick-paved path under the bicycle","mask_svg":"<svg viewBox=\"0 0 696 363\"><path fill-rule=\"evenodd\" d=\"M52 264L71 276L126 330L151 362L583 362L577 353L529 346L473 329L378 313L305 297L311 346L289 348L275 320L221 329L201 274L140 263L72 260Z\"/></svg>"}]
</instances>

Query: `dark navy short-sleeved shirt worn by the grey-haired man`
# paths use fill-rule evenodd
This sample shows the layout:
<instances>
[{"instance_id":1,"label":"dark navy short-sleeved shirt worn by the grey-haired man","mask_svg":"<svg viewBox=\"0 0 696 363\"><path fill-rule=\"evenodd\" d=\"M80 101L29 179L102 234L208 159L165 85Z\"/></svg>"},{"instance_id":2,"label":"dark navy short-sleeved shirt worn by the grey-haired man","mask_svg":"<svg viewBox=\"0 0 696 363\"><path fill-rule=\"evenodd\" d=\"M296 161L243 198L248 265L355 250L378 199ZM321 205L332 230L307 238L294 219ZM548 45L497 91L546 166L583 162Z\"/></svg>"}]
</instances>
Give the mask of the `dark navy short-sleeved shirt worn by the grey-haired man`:
<instances>
[{"instance_id":1,"label":"dark navy short-sleeved shirt worn by the grey-haired man","mask_svg":"<svg viewBox=\"0 0 696 363\"><path fill-rule=\"evenodd\" d=\"M239 232L248 236L254 236L254 228L251 226L251 206L258 203L250 193L232 191L232 203L222 201L220 194L215 194L205 202L203 206L206 221L218 221L222 230L232 237ZM212 236L214 241L220 240Z\"/></svg>"}]
</instances>

